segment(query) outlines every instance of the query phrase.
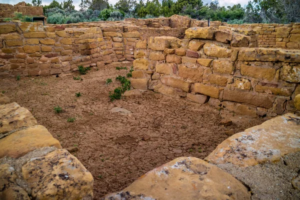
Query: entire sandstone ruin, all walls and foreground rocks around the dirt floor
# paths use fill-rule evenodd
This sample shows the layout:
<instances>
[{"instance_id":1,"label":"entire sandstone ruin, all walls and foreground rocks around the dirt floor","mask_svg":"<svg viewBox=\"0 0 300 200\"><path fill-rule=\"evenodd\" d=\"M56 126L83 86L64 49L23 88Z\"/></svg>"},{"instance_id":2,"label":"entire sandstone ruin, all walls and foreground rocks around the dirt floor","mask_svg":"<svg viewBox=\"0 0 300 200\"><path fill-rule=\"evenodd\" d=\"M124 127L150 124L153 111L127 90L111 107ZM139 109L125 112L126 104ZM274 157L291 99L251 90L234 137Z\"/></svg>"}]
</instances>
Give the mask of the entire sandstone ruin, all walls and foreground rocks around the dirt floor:
<instances>
[{"instance_id":1,"label":"entire sandstone ruin, all walls and foreground rocks around the dirt floor","mask_svg":"<svg viewBox=\"0 0 300 200\"><path fill-rule=\"evenodd\" d=\"M101 199L300 198L300 23L207 27L178 15L0 23L0 77L122 63L133 64L135 90L270 119L228 137L204 160L178 157ZM0 198L92 199L92 189L83 164L0 93Z\"/></svg>"}]
</instances>

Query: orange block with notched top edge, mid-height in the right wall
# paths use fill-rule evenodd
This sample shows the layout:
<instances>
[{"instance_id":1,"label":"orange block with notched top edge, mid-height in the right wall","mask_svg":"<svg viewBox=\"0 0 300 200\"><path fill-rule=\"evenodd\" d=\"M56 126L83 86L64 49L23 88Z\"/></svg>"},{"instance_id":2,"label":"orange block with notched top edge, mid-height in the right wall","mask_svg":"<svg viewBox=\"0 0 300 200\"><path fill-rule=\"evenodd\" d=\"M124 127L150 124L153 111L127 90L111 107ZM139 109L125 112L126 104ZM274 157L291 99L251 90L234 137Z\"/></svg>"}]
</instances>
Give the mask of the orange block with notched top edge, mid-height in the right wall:
<instances>
[{"instance_id":1,"label":"orange block with notched top edge, mid-height in the right wall","mask_svg":"<svg viewBox=\"0 0 300 200\"><path fill-rule=\"evenodd\" d=\"M196 82L202 82L203 77L203 68L196 67L196 68L189 68L186 67L184 64L180 64L178 67L179 76L184 79L193 80Z\"/></svg>"}]
</instances>

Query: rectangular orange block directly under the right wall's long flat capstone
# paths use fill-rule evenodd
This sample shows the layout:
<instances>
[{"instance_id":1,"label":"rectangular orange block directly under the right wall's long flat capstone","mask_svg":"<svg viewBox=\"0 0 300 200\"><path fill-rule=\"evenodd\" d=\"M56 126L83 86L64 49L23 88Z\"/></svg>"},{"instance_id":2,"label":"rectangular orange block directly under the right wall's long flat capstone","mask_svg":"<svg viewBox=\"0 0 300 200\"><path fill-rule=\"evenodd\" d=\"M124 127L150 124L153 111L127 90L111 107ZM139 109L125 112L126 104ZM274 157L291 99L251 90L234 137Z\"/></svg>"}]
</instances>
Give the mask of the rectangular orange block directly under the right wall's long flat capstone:
<instances>
[{"instance_id":1,"label":"rectangular orange block directly under the right wall's long flat capstone","mask_svg":"<svg viewBox=\"0 0 300 200\"><path fill-rule=\"evenodd\" d=\"M268 81L274 79L275 73L276 70L274 68L262 68L245 64L241 64L240 66L240 74L254 78L262 78Z\"/></svg>"}]
</instances>

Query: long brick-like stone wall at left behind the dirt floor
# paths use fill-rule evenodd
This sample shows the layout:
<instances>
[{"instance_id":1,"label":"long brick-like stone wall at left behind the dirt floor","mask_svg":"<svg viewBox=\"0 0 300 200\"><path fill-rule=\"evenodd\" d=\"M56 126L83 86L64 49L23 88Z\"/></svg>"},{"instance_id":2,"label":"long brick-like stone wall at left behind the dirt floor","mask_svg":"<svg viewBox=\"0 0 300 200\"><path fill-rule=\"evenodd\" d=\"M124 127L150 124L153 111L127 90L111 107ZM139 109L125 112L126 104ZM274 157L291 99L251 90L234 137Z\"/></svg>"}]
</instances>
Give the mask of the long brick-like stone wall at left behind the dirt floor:
<instances>
[{"instance_id":1,"label":"long brick-like stone wall at left behind the dirt floor","mask_svg":"<svg viewBox=\"0 0 300 200\"><path fill-rule=\"evenodd\" d=\"M59 74L79 65L132 61L139 35L137 26L0 23L0 76Z\"/></svg>"}]
</instances>

